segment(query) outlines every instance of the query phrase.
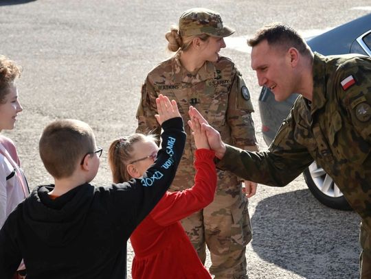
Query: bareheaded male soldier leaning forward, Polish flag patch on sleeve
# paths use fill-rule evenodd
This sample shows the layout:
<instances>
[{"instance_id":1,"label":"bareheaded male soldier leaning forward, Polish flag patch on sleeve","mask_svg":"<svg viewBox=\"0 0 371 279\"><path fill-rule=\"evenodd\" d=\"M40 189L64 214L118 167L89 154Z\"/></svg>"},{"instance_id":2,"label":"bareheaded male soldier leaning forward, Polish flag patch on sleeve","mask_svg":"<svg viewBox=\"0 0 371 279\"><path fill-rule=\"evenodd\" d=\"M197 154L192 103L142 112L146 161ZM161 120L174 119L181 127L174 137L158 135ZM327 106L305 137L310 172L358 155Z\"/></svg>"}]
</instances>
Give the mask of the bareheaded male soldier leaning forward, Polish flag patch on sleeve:
<instances>
[{"instance_id":1,"label":"bareheaded male soldier leaning forward, Polish flag patch on sleeve","mask_svg":"<svg viewBox=\"0 0 371 279\"><path fill-rule=\"evenodd\" d=\"M361 215L361 278L371 278L371 58L313 53L291 27L272 24L248 41L260 86L277 101L299 93L266 152L225 145L204 125L221 169L271 186L284 186L313 160ZM194 108L191 117L201 117Z\"/></svg>"}]
</instances>

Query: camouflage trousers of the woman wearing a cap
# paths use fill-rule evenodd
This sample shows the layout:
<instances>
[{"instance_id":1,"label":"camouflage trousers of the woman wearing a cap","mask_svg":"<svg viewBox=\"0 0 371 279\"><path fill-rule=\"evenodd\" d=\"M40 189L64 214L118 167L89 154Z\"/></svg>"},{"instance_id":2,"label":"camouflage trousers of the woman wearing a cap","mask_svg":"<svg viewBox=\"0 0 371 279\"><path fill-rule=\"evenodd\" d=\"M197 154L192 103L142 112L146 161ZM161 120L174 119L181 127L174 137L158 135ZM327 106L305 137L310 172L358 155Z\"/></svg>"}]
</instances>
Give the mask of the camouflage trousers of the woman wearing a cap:
<instances>
[{"instance_id":1,"label":"camouflage trousers of the woman wearing a cap","mask_svg":"<svg viewBox=\"0 0 371 279\"><path fill-rule=\"evenodd\" d=\"M181 223L203 264L207 245L215 279L247 279L245 251L252 236L248 201L240 186L234 187L234 194L218 189L212 204ZM233 202L229 206L228 198Z\"/></svg>"}]
</instances>

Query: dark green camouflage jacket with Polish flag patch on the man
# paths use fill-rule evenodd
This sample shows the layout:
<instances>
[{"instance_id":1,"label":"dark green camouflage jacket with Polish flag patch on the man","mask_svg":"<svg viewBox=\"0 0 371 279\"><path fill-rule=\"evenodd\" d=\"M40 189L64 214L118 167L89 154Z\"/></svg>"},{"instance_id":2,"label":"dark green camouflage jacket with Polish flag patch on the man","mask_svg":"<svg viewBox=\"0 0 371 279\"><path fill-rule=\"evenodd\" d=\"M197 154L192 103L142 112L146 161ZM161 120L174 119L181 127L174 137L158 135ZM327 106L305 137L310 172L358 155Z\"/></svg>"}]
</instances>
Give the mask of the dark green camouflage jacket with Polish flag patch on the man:
<instances>
[{"instance_id":1,"label":"dark green camouflage jacket with Polish flag patch on the man","mask_svg":"<svg viewBox=\"0 0 371 279\"><path fill-rule=\"evenodd\" d=\"M284 186L314 159L361 215L361 278L371 278L370 151L371 58L315 53L313 101L298 97L269 151L228 146L218 167L247 180Z\"/></svg>"}]
</instances>

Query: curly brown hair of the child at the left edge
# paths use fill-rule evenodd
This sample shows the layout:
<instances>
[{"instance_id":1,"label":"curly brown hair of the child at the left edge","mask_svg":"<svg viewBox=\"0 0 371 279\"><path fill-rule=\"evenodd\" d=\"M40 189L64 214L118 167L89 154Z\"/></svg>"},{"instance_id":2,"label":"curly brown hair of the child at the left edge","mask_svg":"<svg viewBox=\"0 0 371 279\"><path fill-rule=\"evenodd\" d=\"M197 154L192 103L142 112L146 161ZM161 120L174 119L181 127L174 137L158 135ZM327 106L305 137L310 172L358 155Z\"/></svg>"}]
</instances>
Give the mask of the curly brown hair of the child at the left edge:
<instances>
[{"instance_id":1,"label":"curly brown hair of the child at the left edge","mask_svg":"<svg viewBox=\"0 0 371 279\"><path fill-rule=\"evenodd\" d=\"M8 87L21 76L22 68L5 56L0 56L0 104L9 93Z\"/></svg>"}]
</instances>

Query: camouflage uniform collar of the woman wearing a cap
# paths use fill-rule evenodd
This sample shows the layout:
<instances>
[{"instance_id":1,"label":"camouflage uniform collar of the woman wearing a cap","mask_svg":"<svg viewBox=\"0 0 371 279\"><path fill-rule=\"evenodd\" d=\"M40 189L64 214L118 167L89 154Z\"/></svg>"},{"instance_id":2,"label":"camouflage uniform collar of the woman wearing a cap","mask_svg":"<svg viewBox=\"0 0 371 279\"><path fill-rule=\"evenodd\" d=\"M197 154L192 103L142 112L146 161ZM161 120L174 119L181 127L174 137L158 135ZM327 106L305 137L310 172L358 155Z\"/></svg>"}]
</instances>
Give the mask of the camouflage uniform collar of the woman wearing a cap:
<instances>
[{"instance_id":1,"label":"camouflage uniform collar of the woman wearing a cap","mask_svg":"<svg viewBox=\"0 0 371 279\"><path fill-rule=\"evenodd\" d=\"M205 80L210 80L216 77L216 68L214 63L206 61L205 64L201 66L199 71L195 75L188 72L180 62L181 51L178 51L172 58L172 79L174 83L183 82L186 84L197 84Z\"/></svg>"}]
</instances>

